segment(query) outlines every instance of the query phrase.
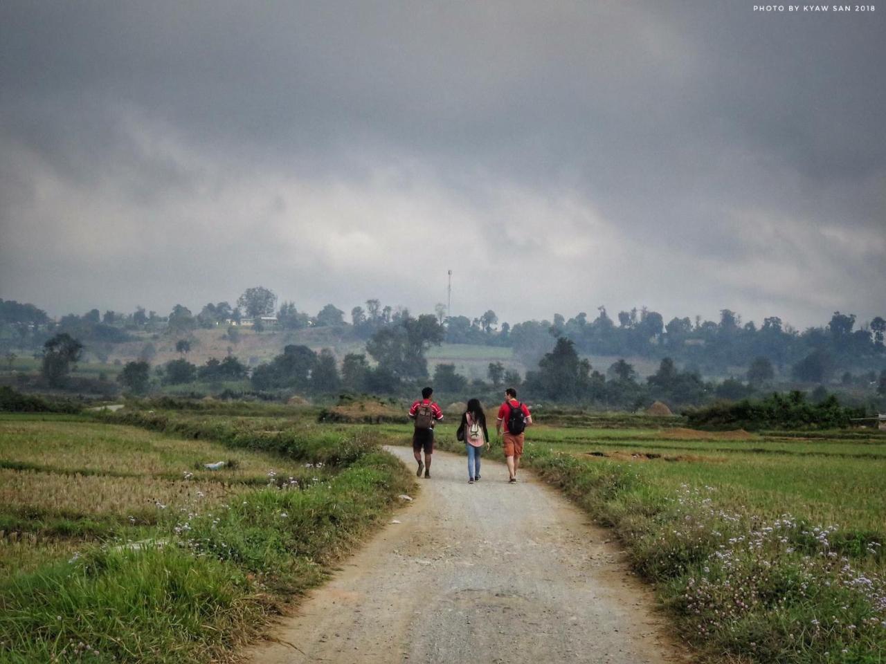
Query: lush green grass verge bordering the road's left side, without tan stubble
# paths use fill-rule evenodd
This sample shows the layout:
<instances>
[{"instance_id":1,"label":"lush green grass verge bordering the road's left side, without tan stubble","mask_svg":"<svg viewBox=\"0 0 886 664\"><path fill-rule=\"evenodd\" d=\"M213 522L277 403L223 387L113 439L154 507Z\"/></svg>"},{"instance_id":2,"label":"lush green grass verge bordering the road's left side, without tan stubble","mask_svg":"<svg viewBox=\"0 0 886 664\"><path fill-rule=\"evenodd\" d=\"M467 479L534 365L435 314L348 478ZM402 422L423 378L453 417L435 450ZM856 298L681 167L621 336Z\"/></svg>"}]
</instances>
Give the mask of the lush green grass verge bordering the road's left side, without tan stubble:
<instances>
[{"instance_id":1,"label":"lush green grass verge bordering the road's left side, without tan stubble","mask_svg":"<svg viewBox=\"0 0 886 664\"><path fill-rule=\"evenodd\" d=\"M303 468L310 481L293 482L277 471L268 471L260 488L233 478L227 484L182 478L188 499L180 506L170 500L166 509L154 506L156 521L143 526L125 517L115 522L129 507L127 498L117 493L105 495L105 510L88 490L80 498L72 494L70 502L76 505L68 506L73 514L66 519L63 495L47 491L41 496L38 490L21 488L15 494L21 509L4 513L5 521L0 521L25 529L7 530L0 537L0 660L229 660L286 601L320 583L413 486L400 462L373 442L380 439L360 429L308 428L284 434L283 429L268 429L264 418L260 423L220 423L144 414L146 419L130 417L130 423L179 436L176 445L183 449L211 440L236 458L254 452L274 459L278 468ZM105 427L123 438L132 431ZM126 444L120 448L125 453ZM163 445L158 449L162 456ZM33 470L5 472L29 480L40 475ZM77 479L163 482L152 475ZM212 497L206 491L202 497L190 493L209 484L224 492ZM33 531L40 524L87 522L101 530L104 541L89 544ZM43 556L31 553L41 549Z\"/></svg>"}]
</instances>

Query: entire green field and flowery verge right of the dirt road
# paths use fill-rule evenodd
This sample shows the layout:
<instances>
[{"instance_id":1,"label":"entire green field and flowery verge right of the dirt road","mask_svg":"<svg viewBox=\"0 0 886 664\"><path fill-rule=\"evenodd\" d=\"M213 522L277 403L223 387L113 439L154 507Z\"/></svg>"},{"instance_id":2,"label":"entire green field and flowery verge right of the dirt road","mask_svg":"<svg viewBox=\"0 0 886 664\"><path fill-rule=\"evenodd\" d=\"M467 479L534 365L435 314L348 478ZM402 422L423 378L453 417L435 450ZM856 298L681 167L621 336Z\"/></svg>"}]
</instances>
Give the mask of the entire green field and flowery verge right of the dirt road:
<instances>
[{"instance_id":1,"label":"entire green field and flowery verge right of the dirt road","mask_svg":"<svg viewBox=\"0 0 886 664\"><path fill-rule=\"evenodd\" d=\"M886 437L700 433L538 427L524 461L616 530L703 660L886 660Z\"/></svg>"}]
</instances>

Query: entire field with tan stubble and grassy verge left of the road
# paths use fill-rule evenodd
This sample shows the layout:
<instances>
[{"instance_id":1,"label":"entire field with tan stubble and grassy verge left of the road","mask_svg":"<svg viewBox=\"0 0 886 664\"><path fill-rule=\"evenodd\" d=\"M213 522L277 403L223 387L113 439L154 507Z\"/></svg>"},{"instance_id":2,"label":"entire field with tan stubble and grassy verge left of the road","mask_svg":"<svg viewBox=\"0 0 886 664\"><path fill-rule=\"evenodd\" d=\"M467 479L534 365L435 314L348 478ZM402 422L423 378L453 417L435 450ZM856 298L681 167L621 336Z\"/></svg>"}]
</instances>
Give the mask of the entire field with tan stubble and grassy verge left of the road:
<instances>
[{"instance_id":1,"label":"entire field with tan stubble and grassy verge left of the road","mask_svg":"<svg viewBox=\"0 0 886 664\"><path fill-rule=\"evenodd\" d=\"M413 486L381 442L282 418L0 414L0 661L232 659Z\"/></svg>"}]
</instances>

